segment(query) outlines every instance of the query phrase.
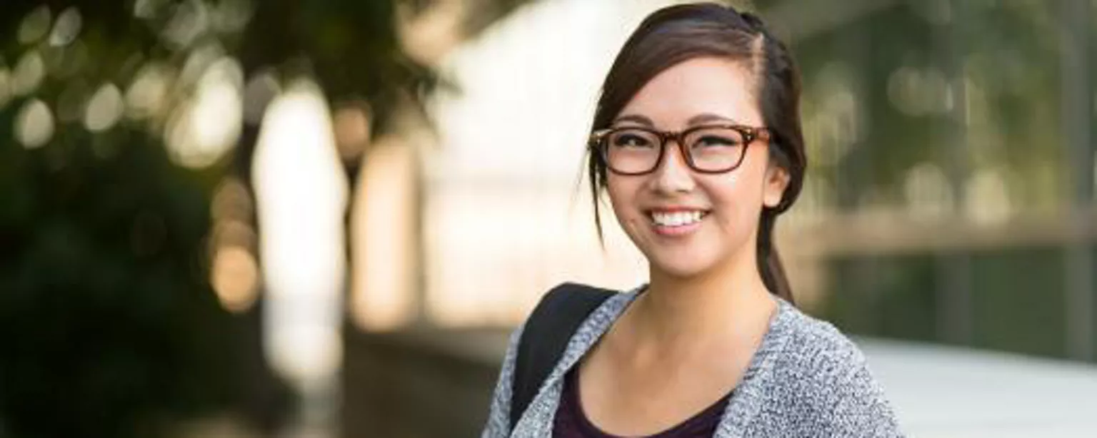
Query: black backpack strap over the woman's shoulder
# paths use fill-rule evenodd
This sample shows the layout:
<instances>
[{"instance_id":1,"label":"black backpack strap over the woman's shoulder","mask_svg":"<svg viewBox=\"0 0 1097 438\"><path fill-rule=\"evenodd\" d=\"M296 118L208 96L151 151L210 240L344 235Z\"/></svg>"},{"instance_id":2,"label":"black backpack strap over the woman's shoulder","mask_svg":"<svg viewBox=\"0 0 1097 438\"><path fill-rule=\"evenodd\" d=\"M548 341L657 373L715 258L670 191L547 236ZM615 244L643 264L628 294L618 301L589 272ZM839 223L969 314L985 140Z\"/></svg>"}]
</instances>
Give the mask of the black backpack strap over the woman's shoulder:
<instances>
[{"instance_id":1,"label":"black backpack strap over the woman's shoulder","mask_svg":"<svg viewBox=\"0 0 1097 438\"><path fill-rule=\"evenodd\" d=\"M617 293L565 283L541 298L518 342L510 403L510 427L518 424L548 372L559 361L572 335L602 302Z\"/></svg>"}]
</instances>

